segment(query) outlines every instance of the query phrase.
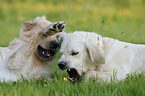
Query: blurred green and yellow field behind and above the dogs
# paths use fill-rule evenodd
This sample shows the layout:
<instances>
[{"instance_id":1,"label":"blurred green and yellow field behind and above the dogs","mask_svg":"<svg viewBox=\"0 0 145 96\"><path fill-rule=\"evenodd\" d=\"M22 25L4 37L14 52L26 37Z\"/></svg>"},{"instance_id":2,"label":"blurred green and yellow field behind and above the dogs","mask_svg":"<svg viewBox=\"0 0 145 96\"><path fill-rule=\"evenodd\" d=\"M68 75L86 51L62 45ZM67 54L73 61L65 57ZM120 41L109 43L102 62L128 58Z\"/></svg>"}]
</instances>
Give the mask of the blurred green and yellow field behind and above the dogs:
<instances>
[{"instance_id":1,"label":"blurred green and yellow field behind and above the dogs","mask_svg":"<svg viewBox=\"0 0 145 96\"><path fill-rule=\"evenodd\" d=\"M23 22L42 15L66 21L66 32L94 31L145 44L145 0L0 0L0 46L19 36Z\"/></svg>"}]
</instances>

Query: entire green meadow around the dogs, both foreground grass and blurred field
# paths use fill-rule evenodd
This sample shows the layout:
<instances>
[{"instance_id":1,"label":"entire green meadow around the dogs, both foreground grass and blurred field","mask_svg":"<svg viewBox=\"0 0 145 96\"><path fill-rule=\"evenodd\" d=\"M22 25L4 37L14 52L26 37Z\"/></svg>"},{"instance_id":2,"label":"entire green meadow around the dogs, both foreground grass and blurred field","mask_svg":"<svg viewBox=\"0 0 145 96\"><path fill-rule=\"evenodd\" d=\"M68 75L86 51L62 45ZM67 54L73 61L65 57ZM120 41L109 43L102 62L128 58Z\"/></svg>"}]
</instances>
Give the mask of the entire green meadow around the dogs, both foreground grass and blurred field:
<instances>
[{"instance_id":1,"label":"entire green meadow around the dogs, both foreground grass and blurred field","mask_svg":"<svg viewBox=\"0 0 145 96\"><path fill-rule=\"evenodd\" d=\"M0 46L6 47L19 37L25 21L45 15L49 21L65 21L67 33L96 32L103 37L116 38L135 44L145 44L144 0L0 0ZM0 83L1 96L145 96L145 76L128 76L111 83L95 82L70 84L64 81L57 61L52 65L53 81Z\"/></svg>"}]
</instances>

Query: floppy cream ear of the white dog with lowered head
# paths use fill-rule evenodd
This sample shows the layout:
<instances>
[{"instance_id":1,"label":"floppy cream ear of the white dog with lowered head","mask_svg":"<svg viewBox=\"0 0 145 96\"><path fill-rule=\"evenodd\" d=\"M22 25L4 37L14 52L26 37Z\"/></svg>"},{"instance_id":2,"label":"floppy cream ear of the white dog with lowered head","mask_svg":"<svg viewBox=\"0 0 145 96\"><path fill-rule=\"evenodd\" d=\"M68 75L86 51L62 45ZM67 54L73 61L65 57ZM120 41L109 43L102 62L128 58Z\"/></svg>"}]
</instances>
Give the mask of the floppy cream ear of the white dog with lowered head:
<instances>
[{"instance_id":1,"label":"floppy cream ear of the white dog with lowered head","mask_svg":"<svg viewBox=\"0 0 145 96\"><path fill-rule=\"evenodd\" d=\"M97 38L88 38L86 44L87 51L91 61L95 64L104 64L105 63L105 52L103 50L103 43L101 40L102 37L98 36ZM96 41L97 40L97 41Z\"/></svg>"}]
</instances>

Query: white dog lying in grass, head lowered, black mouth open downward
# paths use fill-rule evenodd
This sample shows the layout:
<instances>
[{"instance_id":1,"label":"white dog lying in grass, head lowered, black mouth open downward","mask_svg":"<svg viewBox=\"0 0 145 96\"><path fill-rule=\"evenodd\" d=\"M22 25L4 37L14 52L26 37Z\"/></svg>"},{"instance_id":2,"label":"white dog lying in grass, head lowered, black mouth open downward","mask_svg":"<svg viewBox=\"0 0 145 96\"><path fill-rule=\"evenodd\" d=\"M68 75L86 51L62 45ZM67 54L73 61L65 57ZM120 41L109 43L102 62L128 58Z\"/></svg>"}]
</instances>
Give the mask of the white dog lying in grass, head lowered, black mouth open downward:
<instances>
[{"instance_id":1,"label":"white dog lying in grass, head lowered, black mouth open downward","mask_svg":"<svg viewBox=\"0 0 145 96\"><path fill-rule=\"evenodd\" d=\"M96 33L63 34L58 67L67 70L72 82L89 77L103 81L125 79L127 74L145 72L145 45L102 37ZM83 74L82 74L83 73Z\"/></svg>"}]
</instances>

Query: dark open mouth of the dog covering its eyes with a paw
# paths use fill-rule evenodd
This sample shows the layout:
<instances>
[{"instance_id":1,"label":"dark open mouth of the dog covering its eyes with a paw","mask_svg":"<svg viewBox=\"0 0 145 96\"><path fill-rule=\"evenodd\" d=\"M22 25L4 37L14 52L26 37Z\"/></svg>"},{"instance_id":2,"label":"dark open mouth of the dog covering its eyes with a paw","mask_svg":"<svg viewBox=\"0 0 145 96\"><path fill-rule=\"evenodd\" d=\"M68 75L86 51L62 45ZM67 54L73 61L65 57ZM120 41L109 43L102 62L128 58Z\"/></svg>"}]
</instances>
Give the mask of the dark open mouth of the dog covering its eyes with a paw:
<instances>
[{"instance_id":1,"label":"dark open mouth of the dog covering its eyes with a paw","mask_svg":"<svg viewBox=\"0 0 145 96\"><path fill-rule=\"evenodd\" d=\"M50 61L53 60L53 58L55 56L55 52L53 50L44 49L40 45L38 46L38 54L44 60L49 59Z\"/></svg>"}]
</instances>

